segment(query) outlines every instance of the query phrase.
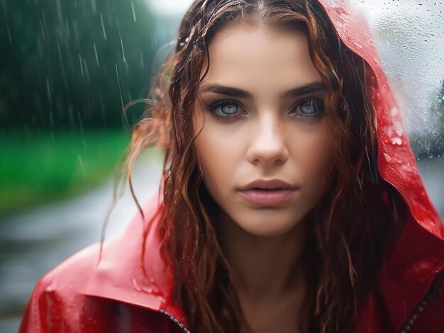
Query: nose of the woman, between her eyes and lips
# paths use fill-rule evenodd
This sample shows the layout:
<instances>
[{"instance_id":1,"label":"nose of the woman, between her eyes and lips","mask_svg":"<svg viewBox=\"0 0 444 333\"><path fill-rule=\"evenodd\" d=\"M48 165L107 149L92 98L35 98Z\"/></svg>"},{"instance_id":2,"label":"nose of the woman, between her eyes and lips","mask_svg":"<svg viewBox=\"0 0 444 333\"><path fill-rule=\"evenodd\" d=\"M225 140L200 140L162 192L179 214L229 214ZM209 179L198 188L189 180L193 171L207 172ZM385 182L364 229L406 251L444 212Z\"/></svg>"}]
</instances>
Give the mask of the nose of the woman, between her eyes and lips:
<instances>
[{"instance_id":1,"label":"nose of the woman, between her eyes and lips","mask_svg":"<svg viewBox=\"0 0 444 333\"><path fill-rule=\"evenodd\" d=\"M252 129L247 159L252 164L277 166L287 162L289 151L284 138L282 120L268 116L257 119Z\"/></svg>"}]
</instances>

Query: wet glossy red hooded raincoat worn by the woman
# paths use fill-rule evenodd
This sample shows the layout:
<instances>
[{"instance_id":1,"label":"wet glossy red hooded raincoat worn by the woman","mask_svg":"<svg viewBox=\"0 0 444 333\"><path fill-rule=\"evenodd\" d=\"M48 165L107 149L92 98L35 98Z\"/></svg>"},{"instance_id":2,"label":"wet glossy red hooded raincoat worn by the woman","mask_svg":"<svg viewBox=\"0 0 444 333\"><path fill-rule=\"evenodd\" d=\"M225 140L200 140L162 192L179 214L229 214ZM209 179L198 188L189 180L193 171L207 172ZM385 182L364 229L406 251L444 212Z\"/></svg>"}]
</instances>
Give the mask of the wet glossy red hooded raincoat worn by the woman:
<instances>
[{"instance_id":1,"label":"wet glossy red hooded raincoat worn by the woman","mask_svg":"<svg viewBox=\"0 0 444 333\"><path fill-rule=\"evenodd\" d=\"M424 191L399 110L382 72L370 30L345 1L321 0L350 50L373 71L378 168L407 203L406 227L384 261L377 284L350 332L444 332L444 227ZM35 287L19 332L189 332L172 295L173 272L159 252L154 218L141 261L143 234L160 205L145 207L118 239L72 256ZM145 266L145 272L143 271Z\"/></svg>"}]
</instances>

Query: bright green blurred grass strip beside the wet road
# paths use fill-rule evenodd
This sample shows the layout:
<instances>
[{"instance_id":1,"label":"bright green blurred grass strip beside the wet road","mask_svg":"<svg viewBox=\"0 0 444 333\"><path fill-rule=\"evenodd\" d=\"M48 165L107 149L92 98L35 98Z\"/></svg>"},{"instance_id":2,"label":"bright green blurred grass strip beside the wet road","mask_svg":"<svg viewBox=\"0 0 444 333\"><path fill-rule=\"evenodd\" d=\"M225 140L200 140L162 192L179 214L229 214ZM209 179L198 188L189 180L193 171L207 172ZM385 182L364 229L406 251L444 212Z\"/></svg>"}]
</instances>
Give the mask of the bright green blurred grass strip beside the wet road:
<instances>
[{"instance_id":1,"label":"bright green blurred grass strip beside the wet road","mask_svg":"<svg viewBox=\"0 0 444 333\"><path fill-rule=\"evenodd\" d=\"M123 130L0 135L0 215L74 196L116 171Z\"/></svg>"}]
</instances>

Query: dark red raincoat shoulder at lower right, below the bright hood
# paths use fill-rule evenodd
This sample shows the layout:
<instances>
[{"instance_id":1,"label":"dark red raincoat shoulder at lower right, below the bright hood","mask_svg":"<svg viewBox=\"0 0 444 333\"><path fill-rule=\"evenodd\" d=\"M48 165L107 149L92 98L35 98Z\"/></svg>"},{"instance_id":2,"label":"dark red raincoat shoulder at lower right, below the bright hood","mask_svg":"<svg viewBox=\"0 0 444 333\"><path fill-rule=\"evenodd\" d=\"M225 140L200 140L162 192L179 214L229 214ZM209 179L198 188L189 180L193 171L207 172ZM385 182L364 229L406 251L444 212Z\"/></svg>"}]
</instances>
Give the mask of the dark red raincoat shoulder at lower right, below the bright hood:
<instances>
[{"instance_id":1,"label":"dark red raincoat shoulder at lower right, below the bright hood","mask_svg":"<svg viewBox=\"0 0 444 333\"><path fill-rule=\"evenodd\" d=\"M409 216L354 332L444 332L443 290L444 240Z\"/></svg>"}]
</instances>

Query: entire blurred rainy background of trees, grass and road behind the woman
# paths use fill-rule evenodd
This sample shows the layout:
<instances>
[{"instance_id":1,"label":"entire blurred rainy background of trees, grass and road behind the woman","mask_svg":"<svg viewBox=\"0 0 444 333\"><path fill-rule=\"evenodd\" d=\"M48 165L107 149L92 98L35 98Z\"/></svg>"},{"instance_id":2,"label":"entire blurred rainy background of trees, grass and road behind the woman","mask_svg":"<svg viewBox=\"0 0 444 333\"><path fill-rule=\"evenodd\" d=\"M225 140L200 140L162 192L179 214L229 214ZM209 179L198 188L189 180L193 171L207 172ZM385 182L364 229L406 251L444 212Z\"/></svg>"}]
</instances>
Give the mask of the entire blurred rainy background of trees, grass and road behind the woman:
<instances>
[{"instance_id":1,"label":"entire blurred rainy background of trees, grass and road behind the woman","mask_svg":"<svg viewBox=\"0 0 444 333\"><path fill-rule=\"evenodd\" d=\"M444 215L443 1L351 1L370 22L421 175ZM0 332L38 278L97 242L112 179L189 0L0 0ZM157 55L156 55L157 52ZM155 56L156 55L156 56ZM145 201L162 153L135 165ZM135 213L126 191L107 237Z\"/></svg>"}]
</instances>

